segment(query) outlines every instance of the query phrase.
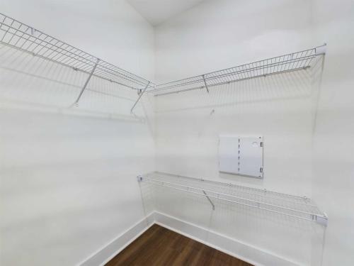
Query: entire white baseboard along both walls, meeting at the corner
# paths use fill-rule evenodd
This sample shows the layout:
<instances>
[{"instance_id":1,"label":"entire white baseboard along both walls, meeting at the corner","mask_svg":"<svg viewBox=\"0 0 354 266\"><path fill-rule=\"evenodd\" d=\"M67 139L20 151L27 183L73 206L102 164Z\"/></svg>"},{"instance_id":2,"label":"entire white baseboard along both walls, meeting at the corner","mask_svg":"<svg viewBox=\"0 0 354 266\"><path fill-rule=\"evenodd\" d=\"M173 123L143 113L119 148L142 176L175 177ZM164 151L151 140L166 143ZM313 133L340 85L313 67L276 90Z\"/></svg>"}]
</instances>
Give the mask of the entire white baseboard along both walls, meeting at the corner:
<instances>
[{"instance_id":1,"label":"entire white baseboard along both walls, meeting at the corner","mask_svg":"<svg viewBox=\"0 0 354 266\"><path fill-rule=\"evenodd\" d=\"M144 231L147 231L154 223L159 226L185 235L188 238L197 240L200 243L209 245L212 248L227 253L234 257L238 257L245 262L252 265L259 266L295 266L296 262L291 262L285 258L268 253L260 248L254 247L247 243L242 243L239 240L229 238L226 235L221 235L214 231L209 231L207 228L202 228L193 223L182 221L176 217L159 212L149 214L147 218L142 219L135 226L119 235L113 241L101 248L101 250L93 253L88 259L81 262L80 266L102 266L111 260L115 255L120 253L121 250L127 247L132 241L139 237Z\"/></svg>"}]
</instances>

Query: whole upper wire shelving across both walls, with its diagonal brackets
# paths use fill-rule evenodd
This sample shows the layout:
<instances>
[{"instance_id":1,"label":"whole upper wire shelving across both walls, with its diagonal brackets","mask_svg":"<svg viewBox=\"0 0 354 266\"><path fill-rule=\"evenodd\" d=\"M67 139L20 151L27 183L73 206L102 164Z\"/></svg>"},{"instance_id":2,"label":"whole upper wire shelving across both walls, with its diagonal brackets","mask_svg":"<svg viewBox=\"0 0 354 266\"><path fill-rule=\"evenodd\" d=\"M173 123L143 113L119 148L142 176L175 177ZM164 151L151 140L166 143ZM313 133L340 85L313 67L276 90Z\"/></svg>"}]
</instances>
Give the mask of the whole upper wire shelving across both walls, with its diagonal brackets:
<instances>
[{"instance_id":1,"label":"whole upper wire shelving across both walls, with its diagonal brackets","mask_svg":"<svg viewBox=\"0 0 354 266\"><path fill-rule=\"evenodd\" d=\"M221 84L229 84L255 77L265 77L269 74L307 69L311 67L316 57L324 55L326 52L326 46L322 45L309 50L293 52L225 70L156 85L147 79L127 70L122 70L120 67L64 43L62 40L38 31L3 13L0 13L0 44L8 45L11 48L28 52L33 56L89 74L74 104L78 104L92 76L115 82L131 89L137 89L139 97L132 106L131 113L133 113L135 106L137 106L139 99L145 92L154 96L203 88L209 92L210 87Z\"/></svg>"}]
</instances>

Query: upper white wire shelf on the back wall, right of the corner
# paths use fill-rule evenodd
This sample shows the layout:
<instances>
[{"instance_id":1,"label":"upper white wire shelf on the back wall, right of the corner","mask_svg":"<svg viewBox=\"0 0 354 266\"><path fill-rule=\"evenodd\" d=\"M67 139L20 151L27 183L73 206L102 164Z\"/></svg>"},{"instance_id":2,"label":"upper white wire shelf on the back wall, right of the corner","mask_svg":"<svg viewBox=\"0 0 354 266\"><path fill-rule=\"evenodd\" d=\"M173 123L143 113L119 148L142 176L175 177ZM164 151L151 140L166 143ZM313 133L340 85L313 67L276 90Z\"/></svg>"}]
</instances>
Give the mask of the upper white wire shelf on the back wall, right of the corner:
<instances>
[{"instance_id":1,"label":"upper white wire shelf on the back wall, right of the corner","mask_svg":"<svg viewBox=\"0 0 354 266\"><path fill-rule=\"evenodd\" d=\"M325 52L326 44L309 50L292 52L287 55L280 55L278 57L239 65L237 67L230 67L225 70L218 70L195 77L158 84L154 89L150 89L149 93L154 94L154 96L159 96L203 88L209 92L210 87L222 84L229 84L255 77L265 77L269 74L304 70L311 67L314 59L324 55Z\"/></svg>"}]
</instances>

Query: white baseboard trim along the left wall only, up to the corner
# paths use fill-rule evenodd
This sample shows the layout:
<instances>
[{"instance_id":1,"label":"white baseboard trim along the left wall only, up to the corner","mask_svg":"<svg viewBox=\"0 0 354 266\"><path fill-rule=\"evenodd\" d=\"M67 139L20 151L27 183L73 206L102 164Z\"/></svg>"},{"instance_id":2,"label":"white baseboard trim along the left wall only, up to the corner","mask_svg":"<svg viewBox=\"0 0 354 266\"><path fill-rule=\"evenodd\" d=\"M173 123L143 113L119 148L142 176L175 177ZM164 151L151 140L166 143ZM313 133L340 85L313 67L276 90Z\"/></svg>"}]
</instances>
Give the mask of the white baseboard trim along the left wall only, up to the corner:
<instances>
[{"instance_id":1,"label":"white baseboard trim along the left wall only, up to the corner","mask_svg":"<svg viewBox=\"0 0 354 266\"><path fill-rule=\"evenodd\" d=\"M135 225L127 229L127 231L118 235L118 237L110 241L110 243L106 244L100 250L96 250L96 252L86 258L83 262L80 262L78 266L105 265L105 263L109 262L113 259L113 257L115 257L115 255L120 253L120 251L124 250L127 245L130 245L130 243L154 225L154 215L154 212L152 212L146 218L143 218L139 222L135 223Z\"/></svg>"}]
</instances>

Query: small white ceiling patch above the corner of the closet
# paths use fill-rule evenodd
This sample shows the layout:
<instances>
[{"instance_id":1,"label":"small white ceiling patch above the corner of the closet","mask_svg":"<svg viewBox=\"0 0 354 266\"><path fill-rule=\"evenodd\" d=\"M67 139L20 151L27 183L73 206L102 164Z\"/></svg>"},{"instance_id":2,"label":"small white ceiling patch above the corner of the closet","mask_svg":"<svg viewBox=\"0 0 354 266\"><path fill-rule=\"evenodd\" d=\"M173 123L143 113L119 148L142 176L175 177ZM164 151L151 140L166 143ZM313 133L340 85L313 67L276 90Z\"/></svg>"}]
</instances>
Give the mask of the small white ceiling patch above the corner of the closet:
<instances>
[{"instance_id":1,"label":"small white ceiling patch above the corner of the closet","mask_svg":"<svg viewBox=\"0 0 354 266\"><path fill-rule=\"evenodd\" d=\"M157 26L204 0L127 0L152 26Z\"/></svg>"}]
</instances>

